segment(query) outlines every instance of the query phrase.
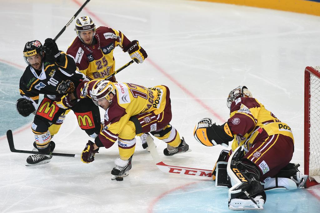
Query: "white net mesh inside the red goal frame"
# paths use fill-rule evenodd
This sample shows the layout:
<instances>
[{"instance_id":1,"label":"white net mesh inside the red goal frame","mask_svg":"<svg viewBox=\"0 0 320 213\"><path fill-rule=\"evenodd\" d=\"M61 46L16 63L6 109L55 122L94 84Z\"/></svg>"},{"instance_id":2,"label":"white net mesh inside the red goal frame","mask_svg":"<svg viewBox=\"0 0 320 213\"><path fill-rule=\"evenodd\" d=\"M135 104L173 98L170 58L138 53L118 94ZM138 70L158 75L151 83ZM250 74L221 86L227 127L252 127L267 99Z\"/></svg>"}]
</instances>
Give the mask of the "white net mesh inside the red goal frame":
<instances>
[{"instance_id":1,"label":"white net mesh inside the red goal frame","mask_svg":"<svg viewBox=\"0 0 320 213\"><path fill-rule=\"evenodd\" d=\"M313 67L320 72L320 66ZM310 73L309 175L320 176L320 77Z\"/></svg>"}]
</instances>

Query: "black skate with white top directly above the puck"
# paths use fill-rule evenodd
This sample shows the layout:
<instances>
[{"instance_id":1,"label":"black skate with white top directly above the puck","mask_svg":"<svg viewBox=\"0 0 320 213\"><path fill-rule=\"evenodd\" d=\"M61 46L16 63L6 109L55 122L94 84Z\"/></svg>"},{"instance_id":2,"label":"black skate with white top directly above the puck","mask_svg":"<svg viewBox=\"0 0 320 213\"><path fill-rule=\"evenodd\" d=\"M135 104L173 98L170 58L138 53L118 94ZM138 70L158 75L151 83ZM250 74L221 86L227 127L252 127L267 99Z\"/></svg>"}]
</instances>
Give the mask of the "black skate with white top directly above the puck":
<instances>
[{"instance_id":1,"label":"black skate with white top directly above the puck","mask_svg":"<svg viewBox=\"0 0 320 213\"><path fill-rule=\"evenodd\" d=\"M111 180L123 180L123 177L128 176L131 169L131 161L132 156L128 160L122 160L118 157L115 160L116 166L111 171Z\"/></svg>"}]
</instances>

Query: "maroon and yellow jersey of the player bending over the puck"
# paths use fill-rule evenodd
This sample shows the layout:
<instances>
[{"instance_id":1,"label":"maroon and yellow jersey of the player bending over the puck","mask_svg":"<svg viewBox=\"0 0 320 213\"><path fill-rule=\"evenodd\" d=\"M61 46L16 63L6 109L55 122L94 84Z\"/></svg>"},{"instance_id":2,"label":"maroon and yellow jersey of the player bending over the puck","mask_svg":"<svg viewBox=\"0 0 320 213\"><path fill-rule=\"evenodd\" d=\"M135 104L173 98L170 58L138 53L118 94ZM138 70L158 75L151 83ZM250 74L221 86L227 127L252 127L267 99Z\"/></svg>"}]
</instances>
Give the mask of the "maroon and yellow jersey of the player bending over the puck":
<instances>
[{"instance_id":1,"label":"maroon and yellow jersey of the player bending over the puck","mask_svg":"<svg viewBox=\"0 0 320 213\"><path fill-rule=\"evenodd\" d=\"M98 80L89 81L88 97L92 87ZM81 85L84 85L83 82ZM77 88L78 97L84 86ZM167 87L160 85L147 88L132 83L114 83L116 95L112 99L111 105L106 110L104 116L104 129L99 134L102 144L108 148L117 139L119 133L124 129L129 119L134 115L144 112L153 112L159 115L166 106L166 96L169 95Z\"/></svg>"}]
</instances>

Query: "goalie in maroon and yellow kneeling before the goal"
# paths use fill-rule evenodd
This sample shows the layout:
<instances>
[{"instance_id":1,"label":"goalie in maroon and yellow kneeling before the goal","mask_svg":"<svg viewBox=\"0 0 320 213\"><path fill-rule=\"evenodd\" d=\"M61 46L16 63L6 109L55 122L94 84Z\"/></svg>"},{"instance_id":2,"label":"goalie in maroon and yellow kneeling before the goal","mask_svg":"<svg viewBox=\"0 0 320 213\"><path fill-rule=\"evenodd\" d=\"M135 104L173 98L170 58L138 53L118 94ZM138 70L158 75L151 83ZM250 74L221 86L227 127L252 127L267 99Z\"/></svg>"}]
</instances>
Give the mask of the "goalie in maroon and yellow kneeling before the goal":
<instances>
[{"instance_id":1,"label":"goalie in maroon and yellow kneeling before the goal","mask_svg":"<svg viewBox=\"0 0 320 213\"><path fill-rule=\"evenodd\" d=\"M245 86L229 93L227 105L230 118L226 123L216 125L204 118L196 125L194 136L205 146L228 147L233 140L231 150L221 152L213 169L216 185L232 186L229 209L263 209L265 190L303 186L307 176L298 165L289 163L294 150L291 128L266 110Z\"/></svg>"}]
</instances>

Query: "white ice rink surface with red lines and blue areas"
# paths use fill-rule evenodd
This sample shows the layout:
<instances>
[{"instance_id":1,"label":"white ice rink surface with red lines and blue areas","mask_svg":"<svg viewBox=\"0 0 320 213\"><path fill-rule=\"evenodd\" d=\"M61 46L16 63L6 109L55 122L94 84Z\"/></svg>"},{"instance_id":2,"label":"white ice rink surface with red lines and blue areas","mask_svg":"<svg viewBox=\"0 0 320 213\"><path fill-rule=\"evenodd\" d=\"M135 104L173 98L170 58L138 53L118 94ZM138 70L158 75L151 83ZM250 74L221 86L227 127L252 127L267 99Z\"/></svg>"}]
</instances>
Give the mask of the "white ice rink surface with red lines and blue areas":
<instances>
[{"instance_id":1,"label":"white ice rink surface with red lines and blue areas","mask_svg":"<svg viewBox=\"0 0 320 213\"><path fill-rule=\"evenodd\" d=\"M26 67L24 44L54 38L83 3L1 2L0 129L2 135L13 129L17 149L31 150L34 141L32 116L23 118L15 111ZM304 68L320 65L320 17L182 0L91 0L80 15L120 30L147 51L146 61L118 73L118 81L170 88L171 124L192 152L166 157L166 144L155 140L165 163L212 169L222 147L199 144L193 128L205 117L224 123L228 93L245 85L292 128L292 163L303 170ZM75 38L73 29L74 23L57 40L59 49L65 51ZM116 69L130 61L120 48L114 57ZM90 139L75 118L69 113L54 136L55 152L80 154ZM161 172L139 139L132 170L122 182L111 181L116 145L101 148L90 164L53 157L48 164L26 167L28 154L11 153L5 136L0 144L0 212L231 212L228 190L216 188L209 178ZM319 195L319 187L268 191L263 212L319 212Z\"/></svg>"}]
</instances>

